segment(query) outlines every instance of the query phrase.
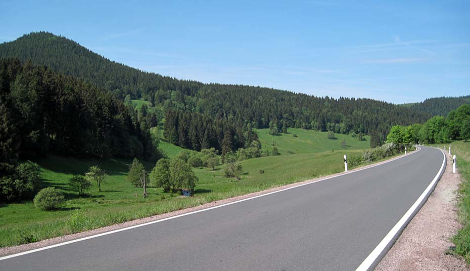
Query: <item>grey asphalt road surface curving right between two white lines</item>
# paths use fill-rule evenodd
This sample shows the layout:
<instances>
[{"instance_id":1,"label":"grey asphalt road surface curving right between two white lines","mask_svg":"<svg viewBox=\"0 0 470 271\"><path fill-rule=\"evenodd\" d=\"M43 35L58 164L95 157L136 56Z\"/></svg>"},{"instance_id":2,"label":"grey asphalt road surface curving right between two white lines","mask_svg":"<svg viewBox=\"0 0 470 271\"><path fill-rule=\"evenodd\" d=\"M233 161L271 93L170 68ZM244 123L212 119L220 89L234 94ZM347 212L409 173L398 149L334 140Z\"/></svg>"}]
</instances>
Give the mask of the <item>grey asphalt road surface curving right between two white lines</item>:
<instances>
[{"instance_id":1,"label":"grey asphalt road surface curving right between two white lines","mask_svg":"<svg viewBox=\"0 0 470 271\"><path fill-rule=\"evenodd\" d=\"M354 270L443 159L424 148L322 182L1 260L0 270Z\"/></svg>"}]
</instances>

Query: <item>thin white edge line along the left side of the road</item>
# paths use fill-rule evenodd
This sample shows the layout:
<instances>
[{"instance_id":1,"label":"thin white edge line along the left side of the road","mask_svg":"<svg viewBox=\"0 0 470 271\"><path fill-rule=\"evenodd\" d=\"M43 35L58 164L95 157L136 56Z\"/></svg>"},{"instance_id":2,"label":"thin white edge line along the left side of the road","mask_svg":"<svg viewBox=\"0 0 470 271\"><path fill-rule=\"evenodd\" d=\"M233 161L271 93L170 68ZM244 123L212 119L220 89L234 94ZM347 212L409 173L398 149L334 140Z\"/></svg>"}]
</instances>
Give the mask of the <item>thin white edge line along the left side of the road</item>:
<instances>
[{"instance_id":1,"label":"thin white edge line along the left side of the road","mask_svg":"<svg viewBox=\"0 0 470 271\"><path fill-rule=\"evenodd\" d=\"M365 169L369 169L369 168L372 168L372 167L380 166L380 165L383 165L383 164L386 164L386 163L389 163L389 162L398 160L398 159L400 159L400 158L403 158L403 157L412 155L412 154L414 154L414 153L417 153L417 152L420 151L420 150L421 150L421 149L418 149L417 151L414 151L414 152L412 152L412 153L408 153L408 154L405 154L405 155L403 155L403 156L400 156L400 157L397 157L397 158L394 158L394 159L390 159L390 160L385 161L385 162L383 162L383 163L378 163L378 164L375 164L375 165L371 165L371 166L366 167L366 168L361 168L361 169L357 169L357 170L354 170L354 171L344 172L344 173L342 173L342 174L340 174L340 175L331 176L331 177L326 177L326 178L319 179L319 180L314 180L313 182L310 182L310 183L305 183L305 184L301 184L301 185L298 185L298 186L293 186L293 187L289 187L289 188L286 188L286 189L277 190L277 191L274 191L274 192L270 192L270 193L258 195L258 196L255 196L255 197L246 198L246 199L238 200L238 201L234 201L234 202L229 202L229 203L217 205L217 206L214 206L214 207L209 207L209 208L206 208L206 209L197 210L197 211L194 211L194 212L178 214L178 215L175 215L175 216L170 216L170 217L163 218L163 219L159 219L159 220L154 220L154 221L150 221L150 222L146 222L146 223L142 223L142 224L138 224L138 225L133 225L133 226L130 226L130 227L127 227L127 228L121 228L121 229L114 230L114 231L110 231L110 232L106 232L106 233L101 233L101 234L97 234L97 235L91 235L91 236L87 236L87 237L83 237L83 238L79 238L79 239L74 239L74 240L66 241L66 242L63 242L63 243L58 243L58 244L54 244L54 245L50 245L50 246L45 246L45 247L36 248L36 249L28 250L28 251L23 251L23 252L16 253L16 254L11 254L11 255L7 255L7 256L3 256L3 257L0 257L0 261L6 260L6 259L10 259L10 258L14 258L14 257L19 257L19 256L22 256L22 255L26 255L26 254L30 254L30 253L34 253L34 252L39 252L39 251L46 250L46 249L51 249L51 248L55 248L55 247L65 246L65 245L68 245L68 244L72 244L72 243L76 243L76 242L80 242L80 241L85 241L85 240L92 239L92 238L97 238L97 237L101 237L101 236L105 236L105 235L109 235L109 234L115 234L115 233L119 233L119 232L131 230L131 229L135 229L135 228L139 228L139 227L144 227L144 226L147 226L147 225L151 225L151 224L158 223L158 222L163 222L163 221L170 220L170 219L175 219L175 218L182 217L182 216L186 216L186 215L191 215L191 214L195 214L195 213L200 213L200 212L204 212L204 211L209 211L209 210L212 210L212 209L216 209L216 208L224 207L224 206L227 206L227 205L231 205L231 204L236 204L236 203L244 202L244 201L247 201L247 200L257 199L257 198L260 198L260 197L268 196L268 195L271 195L271 194L275 194L275 193L279 193L279 192L291 190L291 189L298 188L298 187L302 187L302 186L306 186L306 185L311 185L311 184L314 184L314 183L322 182L323 180L327 180L327 179L331 179L331 178L336 178L336 177L339 177L339 176L344 176L344 175L347 175L347 174L352 174L352 173L359 172L359 171L362 171L362 170L365 170Z\"/></svg>"}]
</instances>

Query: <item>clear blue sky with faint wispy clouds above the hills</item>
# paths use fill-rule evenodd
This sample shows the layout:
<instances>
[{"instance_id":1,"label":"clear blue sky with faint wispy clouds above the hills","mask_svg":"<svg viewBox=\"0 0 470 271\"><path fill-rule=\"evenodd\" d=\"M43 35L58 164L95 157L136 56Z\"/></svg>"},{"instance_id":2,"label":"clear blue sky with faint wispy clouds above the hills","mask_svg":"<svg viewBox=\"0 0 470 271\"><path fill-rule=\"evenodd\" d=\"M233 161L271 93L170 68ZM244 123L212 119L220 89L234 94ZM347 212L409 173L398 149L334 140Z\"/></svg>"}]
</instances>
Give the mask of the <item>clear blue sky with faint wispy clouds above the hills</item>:
<instances>
[{"instance_id":1,"label":"clear blue sky with faint wispy clouds above the hills","mask_svg":"<svg viewBox=\"0 0 470 271\"><path fill-rule=\"evenodd\" d=\"M470 95L470 1L0 1L0 42L48 31L180 79L411 103Z\"/></svg>"}]
</instances>

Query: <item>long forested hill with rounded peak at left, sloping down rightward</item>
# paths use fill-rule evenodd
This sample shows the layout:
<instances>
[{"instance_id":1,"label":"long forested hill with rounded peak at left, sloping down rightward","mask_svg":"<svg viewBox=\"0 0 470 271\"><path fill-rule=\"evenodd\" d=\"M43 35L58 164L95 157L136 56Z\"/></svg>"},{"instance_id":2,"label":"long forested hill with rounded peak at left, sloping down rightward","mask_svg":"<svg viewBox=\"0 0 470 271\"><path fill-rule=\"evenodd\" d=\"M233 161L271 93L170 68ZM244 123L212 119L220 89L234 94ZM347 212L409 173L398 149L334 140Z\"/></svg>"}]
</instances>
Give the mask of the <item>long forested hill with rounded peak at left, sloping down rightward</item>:
<instances>
[{"instance_id":1,"label":"long forested hill with rounded peak at left, sloping down rightward","mask_svg":"<svg viewBox=\"0 0 470 271\"><path fill-rule=\"evenodd\" d=\"M119 99L150 101L162 113L170 109L214 119L252 124L371 134L377 144L391 125L425 122L432 115L415 108L370 99L332 99L247 85L203 84L139 71L110 61L77 42L46 32L0 44L0 58L51 67L113 92ZM129 98L129 97L128 97Z\"/></svg>"}]
</instances>

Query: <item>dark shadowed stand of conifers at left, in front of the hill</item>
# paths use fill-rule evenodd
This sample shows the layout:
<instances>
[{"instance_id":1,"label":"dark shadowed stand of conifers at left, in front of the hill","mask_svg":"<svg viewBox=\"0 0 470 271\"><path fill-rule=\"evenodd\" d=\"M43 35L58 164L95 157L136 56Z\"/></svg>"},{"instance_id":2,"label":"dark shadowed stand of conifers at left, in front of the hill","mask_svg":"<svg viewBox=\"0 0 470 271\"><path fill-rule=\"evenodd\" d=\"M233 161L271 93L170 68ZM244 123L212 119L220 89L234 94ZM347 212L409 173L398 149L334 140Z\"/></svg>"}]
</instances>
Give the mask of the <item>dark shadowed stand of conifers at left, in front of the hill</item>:
<instances>
[{"instance_id":1,"label":"dark shadowed stand of conifers at left, in front of the hill","mask_svg":"<svg viewBox=\"0 0 470 271\"><path fill-rule=\"evenodd\" d=\"M48 153L158 159L147 120L112 93L18 59L0 60L0 173Z\"/></svg>"}]
</instances>

